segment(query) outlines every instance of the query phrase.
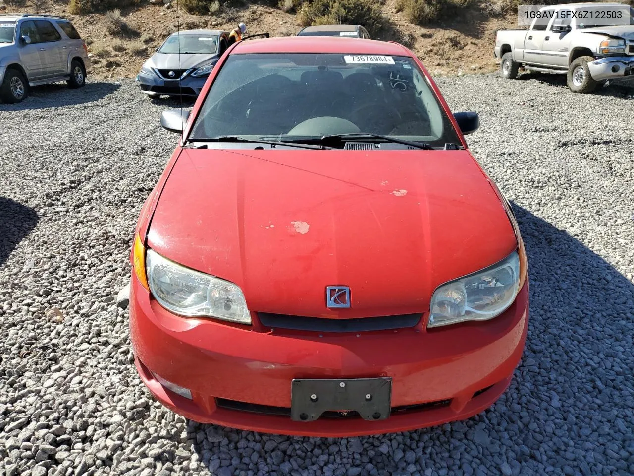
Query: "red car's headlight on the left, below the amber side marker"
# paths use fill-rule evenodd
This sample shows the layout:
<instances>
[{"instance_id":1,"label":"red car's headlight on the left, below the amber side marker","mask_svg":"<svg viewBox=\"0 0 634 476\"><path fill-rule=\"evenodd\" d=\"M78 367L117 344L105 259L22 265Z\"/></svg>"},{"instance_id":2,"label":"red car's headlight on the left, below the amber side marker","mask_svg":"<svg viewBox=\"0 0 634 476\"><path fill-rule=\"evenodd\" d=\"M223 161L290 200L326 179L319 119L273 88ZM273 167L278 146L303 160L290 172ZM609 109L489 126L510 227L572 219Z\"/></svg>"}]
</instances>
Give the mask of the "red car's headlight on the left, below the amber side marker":
<instances>
[{"instance_id":1,"label":"red car's headlight on the left, below the amber side marker","mask_svg":"<svg viewBox=\"0 0 634 476\"><path fill-rule=\"evenodd\" d=\"M148 284L160 305L186 317L216 317L224 321L251 324L242 289L168 260L148 249Z\"/></svg>"}]
</instances>

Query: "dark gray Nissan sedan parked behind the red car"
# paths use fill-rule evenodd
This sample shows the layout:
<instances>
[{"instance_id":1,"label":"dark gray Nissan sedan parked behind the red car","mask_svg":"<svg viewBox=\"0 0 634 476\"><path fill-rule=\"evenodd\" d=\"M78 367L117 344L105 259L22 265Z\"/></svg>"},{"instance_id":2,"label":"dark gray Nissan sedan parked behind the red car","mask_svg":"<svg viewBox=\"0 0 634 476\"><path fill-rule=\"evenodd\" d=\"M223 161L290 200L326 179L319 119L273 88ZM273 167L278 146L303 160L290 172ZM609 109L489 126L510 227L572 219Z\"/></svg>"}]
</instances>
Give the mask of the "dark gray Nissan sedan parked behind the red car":
<instances>
[{"instance_id":1,"label":"dark gray Nissan sedan parked behind the red car","mask_svg":"<svg viewBox=\"0 0 634 476\"><path fill-rule=\"evenodd\" d=\"M141 91L154 98L198 96L228 47L229 33L222 30L182 30L171 34L141 66L137 76Z\"/></svg>"}]
</instances>

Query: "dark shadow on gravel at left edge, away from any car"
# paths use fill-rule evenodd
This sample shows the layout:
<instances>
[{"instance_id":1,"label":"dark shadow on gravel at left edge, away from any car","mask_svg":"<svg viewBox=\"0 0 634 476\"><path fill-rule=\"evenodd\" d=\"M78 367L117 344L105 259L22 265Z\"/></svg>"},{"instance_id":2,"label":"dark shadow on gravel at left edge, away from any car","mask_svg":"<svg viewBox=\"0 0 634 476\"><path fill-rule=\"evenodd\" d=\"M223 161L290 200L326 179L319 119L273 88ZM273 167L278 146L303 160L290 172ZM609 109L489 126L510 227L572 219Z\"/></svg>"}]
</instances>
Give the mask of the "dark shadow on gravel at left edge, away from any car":
<instances>
[{"instance_id":1,"label":"dark shadow on gravel at left edge, away from any car","mask_svg":"<svg viewBox=\"0 0 634 476\"><path fill-rule=\"evenodd\" d=\"M34 209L0 197L0 266L11 251L36 227L39 216Z\"/></svg>"}]
</instances>

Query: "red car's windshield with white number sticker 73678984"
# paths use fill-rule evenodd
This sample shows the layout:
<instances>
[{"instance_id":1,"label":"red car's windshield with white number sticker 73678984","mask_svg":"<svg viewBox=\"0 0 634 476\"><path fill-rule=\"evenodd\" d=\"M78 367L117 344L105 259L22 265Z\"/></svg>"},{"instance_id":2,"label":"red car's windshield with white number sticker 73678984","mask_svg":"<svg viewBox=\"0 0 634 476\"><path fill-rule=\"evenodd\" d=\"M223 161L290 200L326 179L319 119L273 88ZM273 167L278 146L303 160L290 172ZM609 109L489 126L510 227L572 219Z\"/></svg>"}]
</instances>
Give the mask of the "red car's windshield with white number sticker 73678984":
<instances>
[{"instance_id":1,"label":"red car's windshield with white number sticker 73678984","mask_svg":"<svg viewBox=\"0 0 634 476\"><path fill-rule=\"evenodd\" d=\"M411 58L331 53L231 55L188 140L353 133L460 143Z\"/></svg>"}]
</instances>

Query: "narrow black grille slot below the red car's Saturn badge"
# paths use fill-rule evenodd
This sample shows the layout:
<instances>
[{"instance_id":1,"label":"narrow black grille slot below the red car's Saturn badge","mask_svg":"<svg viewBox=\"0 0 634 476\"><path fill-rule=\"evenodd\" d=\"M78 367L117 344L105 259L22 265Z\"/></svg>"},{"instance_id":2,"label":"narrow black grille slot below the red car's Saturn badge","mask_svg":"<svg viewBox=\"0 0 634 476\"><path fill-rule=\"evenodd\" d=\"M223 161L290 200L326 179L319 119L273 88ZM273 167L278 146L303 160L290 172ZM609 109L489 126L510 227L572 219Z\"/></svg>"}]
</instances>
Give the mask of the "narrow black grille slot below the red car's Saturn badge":
<instances>
[{"instance_id":1,"label":"narrow black grille slot below the red car's Saturn badge","mask_svg":"<svg viewBox=\"0 0 634 476\"><path fill-rule=\"evenodd\" d=\"M269 314L258 312L262 326L313 332L368 332L387 331L414 327L422 314L384 315L380 317L359 317L357 319L325 319L323 317L304 317L299 315Z\"/></svg>"}]
</instances>

